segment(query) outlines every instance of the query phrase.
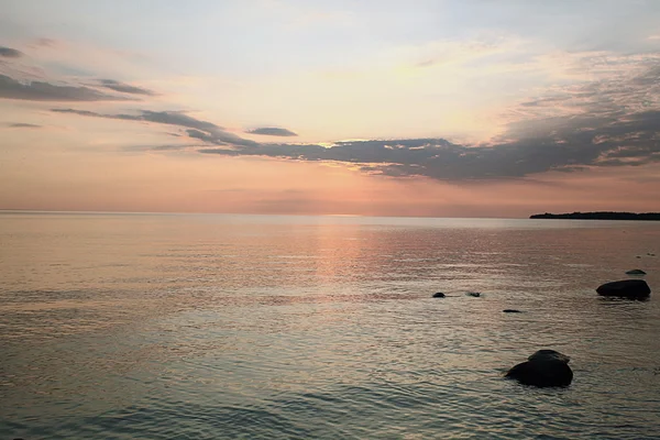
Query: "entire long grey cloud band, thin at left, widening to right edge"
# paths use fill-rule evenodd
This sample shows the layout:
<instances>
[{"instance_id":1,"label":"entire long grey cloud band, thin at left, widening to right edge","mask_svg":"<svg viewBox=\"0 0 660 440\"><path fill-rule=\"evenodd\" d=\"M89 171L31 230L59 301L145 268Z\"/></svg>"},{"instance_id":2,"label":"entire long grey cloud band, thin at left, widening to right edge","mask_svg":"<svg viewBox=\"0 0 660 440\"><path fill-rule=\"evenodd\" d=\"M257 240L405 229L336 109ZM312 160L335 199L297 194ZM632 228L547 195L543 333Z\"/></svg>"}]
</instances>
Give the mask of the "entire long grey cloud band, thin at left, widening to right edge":
<instances>
[{"instance_id":1,"label":"entire long grey cloud band, thin at left, widening to right edge","mask_svg":"<svg viewBox=\"0 0 660 440\"><path fill-rule=\"evenodd\" d=\"M438 138L343 141L330 147L258 143L183 112L142 110L134 116L54 111L180 127L188 138L200 141L204 146L196 148L202 154L339 162L367 174L398 178L521 178L549 170L573 173L588 167L660 163L660 56L639 59L641 65L630 66L620 61L627 68L624 76L553 88L521 102L513 109L518 120L488 145L461 145Z\"/></svg>"}]
</instances>

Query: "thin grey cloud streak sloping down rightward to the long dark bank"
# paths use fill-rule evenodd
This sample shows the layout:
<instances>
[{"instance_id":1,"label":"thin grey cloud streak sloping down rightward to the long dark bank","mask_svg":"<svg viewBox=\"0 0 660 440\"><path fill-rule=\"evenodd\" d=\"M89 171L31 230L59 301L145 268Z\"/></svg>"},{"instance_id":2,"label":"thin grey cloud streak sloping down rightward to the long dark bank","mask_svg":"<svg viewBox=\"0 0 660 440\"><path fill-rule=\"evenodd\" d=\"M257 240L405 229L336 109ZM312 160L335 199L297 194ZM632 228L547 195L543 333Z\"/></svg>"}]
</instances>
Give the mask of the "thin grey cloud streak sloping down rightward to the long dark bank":
<instances>
[{"instance_id":1,"label":"thin grey cloud streak sloping down rightward to the long dark bank","mask_svg":"<svg viewBox=\"0 0 660 440\"><path fill-rule=\"evenodd\" d=\"M207 143L215 145L235 145L235 146L254 146L256 142L248 139L240 138L233 133L224 131L222 127L216 125L212 122L200 121L193 117L187 116L180 111L151 111L151 110L139 110L139 114L103 114L88 110L76 110L76 109L52 109L58 113L72 113L84 117L105 118L105 119L118 119L123 121L143 121L154 122L167 125L177 125L187 128L188 135L190 138L200 139Z\"/></svg>"}]
</instances>

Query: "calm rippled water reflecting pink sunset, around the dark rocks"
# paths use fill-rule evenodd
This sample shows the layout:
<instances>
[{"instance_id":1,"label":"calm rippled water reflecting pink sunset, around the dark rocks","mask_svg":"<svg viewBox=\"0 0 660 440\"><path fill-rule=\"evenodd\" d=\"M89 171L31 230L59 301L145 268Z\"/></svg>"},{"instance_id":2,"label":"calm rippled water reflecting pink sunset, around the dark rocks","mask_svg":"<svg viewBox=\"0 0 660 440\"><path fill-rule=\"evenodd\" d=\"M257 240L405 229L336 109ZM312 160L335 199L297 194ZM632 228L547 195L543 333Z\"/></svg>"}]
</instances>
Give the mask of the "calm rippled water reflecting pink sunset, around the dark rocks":
<instances>
[{"instance_id":1,"label":"calm rippled water reflecting pink sunset, around the dark rocks","mask_svg":"<svg viewBox=\"0 0 660 440\"><path fill-rule=\"evenodd\" d=\"M0 244L2 439L660 438L658 222L1 213ZM650 301L596 296L630 268ZM569 388L502 378L541 348Z\"/></svg>"}]
</instances>

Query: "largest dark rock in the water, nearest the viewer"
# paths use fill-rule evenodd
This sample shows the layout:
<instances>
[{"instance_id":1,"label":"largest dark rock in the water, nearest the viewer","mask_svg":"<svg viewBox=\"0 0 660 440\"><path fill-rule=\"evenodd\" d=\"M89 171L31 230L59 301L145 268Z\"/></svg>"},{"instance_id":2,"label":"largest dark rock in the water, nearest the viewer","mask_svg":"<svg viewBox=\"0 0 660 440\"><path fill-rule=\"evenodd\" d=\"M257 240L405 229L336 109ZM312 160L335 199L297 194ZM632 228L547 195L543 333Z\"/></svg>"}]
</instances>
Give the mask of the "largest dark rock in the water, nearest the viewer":
<instances>
[{"instance_id":1,"label":"largest dark rock in the water, nearest the viewer","mask_svg":"<svg viewBox=\"0 0 660 440\"><path fill-rule=\"evenodd\" d=\"M554 350L539 350L513 369L505 377L524 385L538 387L569 386L573 381L573 371L569 366L570 358Z\"/></svg>"}]
</instances>

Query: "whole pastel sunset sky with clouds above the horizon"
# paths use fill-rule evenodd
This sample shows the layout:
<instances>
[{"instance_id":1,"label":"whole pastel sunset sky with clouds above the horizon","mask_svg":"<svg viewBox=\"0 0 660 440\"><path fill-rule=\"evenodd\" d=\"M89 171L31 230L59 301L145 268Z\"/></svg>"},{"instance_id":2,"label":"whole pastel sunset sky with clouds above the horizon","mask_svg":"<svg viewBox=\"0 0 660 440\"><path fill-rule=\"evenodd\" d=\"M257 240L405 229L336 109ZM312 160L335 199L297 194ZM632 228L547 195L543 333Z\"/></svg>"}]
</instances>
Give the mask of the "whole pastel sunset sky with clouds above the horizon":
<instances>
[{"instance_id":1,"label":"whole pastel sunset sky with clouds above the horizon","mask_svg":"<svg viewBox=\"0 0 660 440\"><path fill-rule=\"evenodd\" d=\"M0 11L0 209L660 211L659 1Z\"/></svg>"}]
</instances>

